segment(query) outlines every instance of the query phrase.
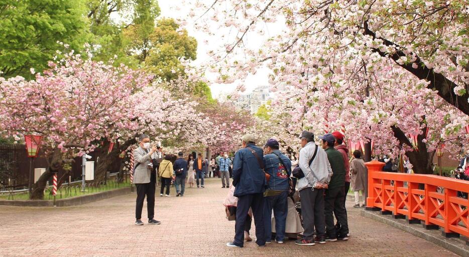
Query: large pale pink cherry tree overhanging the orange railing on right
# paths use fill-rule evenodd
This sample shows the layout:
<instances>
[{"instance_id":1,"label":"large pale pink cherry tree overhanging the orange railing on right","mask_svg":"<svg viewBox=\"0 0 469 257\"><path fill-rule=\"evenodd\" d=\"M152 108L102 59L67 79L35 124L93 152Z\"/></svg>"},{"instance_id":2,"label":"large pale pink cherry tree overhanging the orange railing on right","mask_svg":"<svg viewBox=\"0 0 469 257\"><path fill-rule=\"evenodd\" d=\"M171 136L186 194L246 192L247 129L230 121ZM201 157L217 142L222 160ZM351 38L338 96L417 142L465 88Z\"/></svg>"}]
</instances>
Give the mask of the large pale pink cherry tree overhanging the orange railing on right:
<instances>
[{"instance_id":1,"label":"large pale pink cherry tree overhanging the orange railing on right","mask_svg":"<svg viewBox=\"0 0 469 257\"><path fill-rule=\"evenodd\" d=\"M469 113L464 1L199 1L195 7L201 28L217 24L217 32L233 32L210 52L219 82L270 68L272 90L282 91L281 104L272 106L295 123L286 125L289 133L344 125L353 140L373 139L377 152L406 153L418 173L430 171L442 142L458 152ZM259 39L269 29L277 31ZM250 37L261 43L250 44Z\"/></svg>"}]
</instances>

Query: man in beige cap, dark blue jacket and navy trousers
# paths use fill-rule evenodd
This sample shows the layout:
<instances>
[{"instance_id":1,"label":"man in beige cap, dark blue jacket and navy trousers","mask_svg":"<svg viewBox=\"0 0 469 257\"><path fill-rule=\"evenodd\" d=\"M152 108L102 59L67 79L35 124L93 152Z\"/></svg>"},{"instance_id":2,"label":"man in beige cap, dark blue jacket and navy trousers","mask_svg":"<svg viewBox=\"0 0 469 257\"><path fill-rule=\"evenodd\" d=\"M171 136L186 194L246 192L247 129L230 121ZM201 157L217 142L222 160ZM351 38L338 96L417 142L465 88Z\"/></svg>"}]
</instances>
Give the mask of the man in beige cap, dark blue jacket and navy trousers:
<instances>
[{"instance_id":1,"label":"man in beige cap, dark blue jacket and navy trousers","mask_svg":"<svg viewBox=\"0 0 469 257\"><path fill-rule=\"evenodd\" d=\"M253 211L256 226L256 243L266 245L264 230L264 196L266 176L263 171L265 159L262 149L257 147L253 135L246 134L242 138L243 148L238 150L233 161L234 196L238 197L236 210L235 239L226 243L228 247L244 246L244 231L249 208ZM270 218L270 217L269 217Z\"/></svg>"}]
</instances>

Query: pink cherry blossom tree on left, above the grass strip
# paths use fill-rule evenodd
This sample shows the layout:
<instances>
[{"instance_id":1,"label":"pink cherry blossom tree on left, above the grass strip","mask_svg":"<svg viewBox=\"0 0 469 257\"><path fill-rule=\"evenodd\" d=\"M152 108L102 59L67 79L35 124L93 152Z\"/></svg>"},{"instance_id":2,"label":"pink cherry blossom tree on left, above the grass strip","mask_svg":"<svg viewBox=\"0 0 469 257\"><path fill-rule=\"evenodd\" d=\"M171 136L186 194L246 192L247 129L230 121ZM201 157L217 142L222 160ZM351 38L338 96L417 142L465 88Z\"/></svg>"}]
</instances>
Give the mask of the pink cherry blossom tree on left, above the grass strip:
<instances>
[{"instance_id":1,"label":"pink cherry blossom tree on left, above the grass strip","mask_svg":"<svg viewBox=\"0 0 469 257\"><path fill-rule=\"evenodd\" d=\"M36 73L36 80L0 78L1 132L18 139L44 136L49 167L34 184L33 199L42 198L46 181L73 157L93 151L102 138L138 128L133 102L126 100L151 80L140 71L84 60L73 52L49 67Z\"/></svg>"}]
</instances>

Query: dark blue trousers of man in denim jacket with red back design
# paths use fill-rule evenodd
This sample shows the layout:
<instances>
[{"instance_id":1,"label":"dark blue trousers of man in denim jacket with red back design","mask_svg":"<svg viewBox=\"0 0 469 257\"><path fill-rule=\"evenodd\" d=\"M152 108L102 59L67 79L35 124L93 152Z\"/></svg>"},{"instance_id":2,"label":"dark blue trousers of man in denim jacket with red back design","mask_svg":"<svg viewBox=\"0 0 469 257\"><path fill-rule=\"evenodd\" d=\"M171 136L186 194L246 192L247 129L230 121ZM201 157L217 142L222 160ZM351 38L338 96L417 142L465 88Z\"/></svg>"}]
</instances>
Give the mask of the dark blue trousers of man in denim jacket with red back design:
<instances>
[{"instance_id":1,"label":"dark blue trousers of man in denim jacket with red back design","mask_svg":"<svg viewBox=\"0 0 469 257\"><path fill-rule=\"evenodd\" d=\"M266 230L266 241L272 240L272 209L275 217L275 234L277 241L285 240L285 225L287 221L288 191L284 191L276 196L264 197L264 227Z\"/></svg>"}]
</instances>

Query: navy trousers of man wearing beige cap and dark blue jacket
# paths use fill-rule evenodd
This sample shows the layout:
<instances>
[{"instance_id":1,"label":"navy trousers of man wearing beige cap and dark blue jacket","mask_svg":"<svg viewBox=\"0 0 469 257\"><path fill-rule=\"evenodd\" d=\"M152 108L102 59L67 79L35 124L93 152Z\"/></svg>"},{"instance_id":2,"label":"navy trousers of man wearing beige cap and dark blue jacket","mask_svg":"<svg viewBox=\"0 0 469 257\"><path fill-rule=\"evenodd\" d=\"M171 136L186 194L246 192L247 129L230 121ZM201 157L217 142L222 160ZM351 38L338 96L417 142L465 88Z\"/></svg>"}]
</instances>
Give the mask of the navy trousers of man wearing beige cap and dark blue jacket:
<instances>
[{"instance_id":1,"label":"navy trousers of man wearing beige cap and dark blue jacket","mask_svg":"<svg viewBox=\"0 0 469 257\"><path fill-rule=\"evenodd\" d=\"M247 194L238 197L238 207L236 209L235 240L234 244L244 245L244 231L249 208L253 210L254 225L256 226L256 237L258 245L265 245L264 231L264 195L262 193Z\"/></svg>"}]
</instances>

